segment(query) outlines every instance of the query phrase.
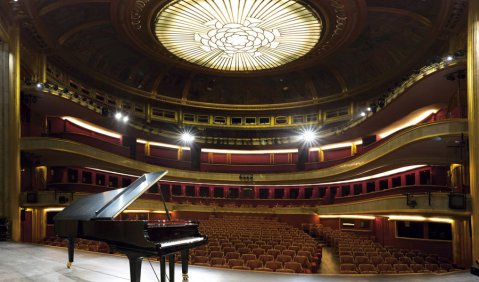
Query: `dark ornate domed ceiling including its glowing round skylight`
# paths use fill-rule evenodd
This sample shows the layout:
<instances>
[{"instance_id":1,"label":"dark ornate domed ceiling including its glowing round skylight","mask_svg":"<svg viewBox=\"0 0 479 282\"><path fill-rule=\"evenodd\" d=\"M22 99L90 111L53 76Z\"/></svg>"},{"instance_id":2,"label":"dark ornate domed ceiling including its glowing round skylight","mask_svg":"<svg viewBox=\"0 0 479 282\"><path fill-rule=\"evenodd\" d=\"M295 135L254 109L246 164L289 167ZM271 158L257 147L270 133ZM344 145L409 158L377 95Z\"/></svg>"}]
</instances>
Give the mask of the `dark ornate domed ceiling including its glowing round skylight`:
<instances>
[{"instance_id":1,"label":"dark ornate domed ceiling including its glowing round skylight","mask_svg":"<svg viewBox=\"0 0 479 282\"><path fill-rule=\"evenodd\" d=\"M381 93L449 49L448 36L465 19L454 8L461 1L15 5L32 46L100 91L152 103L257 111L347 105Z\"/></svg>"}]
</instances>

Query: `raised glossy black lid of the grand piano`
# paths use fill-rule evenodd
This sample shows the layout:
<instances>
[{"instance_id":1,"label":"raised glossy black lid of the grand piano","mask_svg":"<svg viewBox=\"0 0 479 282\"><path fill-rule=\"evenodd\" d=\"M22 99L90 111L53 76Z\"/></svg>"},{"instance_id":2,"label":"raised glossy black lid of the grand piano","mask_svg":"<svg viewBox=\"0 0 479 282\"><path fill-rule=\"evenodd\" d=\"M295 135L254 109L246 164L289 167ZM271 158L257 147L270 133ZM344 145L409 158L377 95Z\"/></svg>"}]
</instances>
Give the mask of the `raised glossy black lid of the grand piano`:
<instances>
[{"instance_id":1,"label":"raised glossy black lid of the grand piano","mask_svg":"<svg viewBox=\"0 0 479 282\"><path fill-rule=\"evenodd\" d=\"M54 220L112 220L167 173L146 173L128 187L80 198L58 213Z\"/></svg>"}]
</instances>

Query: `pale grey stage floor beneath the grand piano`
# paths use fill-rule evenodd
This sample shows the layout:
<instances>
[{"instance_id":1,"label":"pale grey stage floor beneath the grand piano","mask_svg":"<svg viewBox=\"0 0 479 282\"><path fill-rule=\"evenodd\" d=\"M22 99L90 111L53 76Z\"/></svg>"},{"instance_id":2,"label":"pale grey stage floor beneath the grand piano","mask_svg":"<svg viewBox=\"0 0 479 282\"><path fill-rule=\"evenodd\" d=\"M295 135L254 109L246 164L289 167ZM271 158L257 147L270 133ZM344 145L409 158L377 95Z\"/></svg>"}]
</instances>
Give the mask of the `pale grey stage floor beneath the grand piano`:
<instances>
[{"instance_id":1,"label":"pale grey stage floor beneath the grand piano","mask_svg":"<svg viewBox=\"0 0 479 282\"><path fill-rule=\"evenodd\" d=\"M75 250L75 262L66 268L66 248L36 244L0 242L0 281L129 281L128 259ZM159 264L153 262L159 272ZM181 267L176 265L175 281L181 281ZM403 281L465 282L478 281L468 271L448 274L411 275L307 275L189 267L189 282L330 282L330 281ZM157 281L147 260L143 261L141 281Z\"/></svg>"}]
</instances>

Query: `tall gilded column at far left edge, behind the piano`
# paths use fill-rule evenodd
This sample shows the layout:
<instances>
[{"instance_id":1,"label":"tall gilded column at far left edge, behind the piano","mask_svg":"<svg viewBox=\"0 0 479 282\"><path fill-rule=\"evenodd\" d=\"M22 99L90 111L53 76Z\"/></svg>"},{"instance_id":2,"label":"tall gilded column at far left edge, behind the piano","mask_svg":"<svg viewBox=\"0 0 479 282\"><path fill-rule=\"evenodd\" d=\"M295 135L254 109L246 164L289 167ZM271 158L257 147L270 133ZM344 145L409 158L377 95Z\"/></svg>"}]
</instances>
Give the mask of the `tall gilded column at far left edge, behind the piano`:
<instances>
[{"instance_id":1,"label":"tall gilded column at far left edge, behind the piano","mask_svg":"<svg viewBox=\"0 0 479 282\"><path fill-rule=\"evenodd\" d=\"M0 217L20 241L20 30L14 23L7 28L8 38L0 34Z\"/></svg>"}]
</instances>

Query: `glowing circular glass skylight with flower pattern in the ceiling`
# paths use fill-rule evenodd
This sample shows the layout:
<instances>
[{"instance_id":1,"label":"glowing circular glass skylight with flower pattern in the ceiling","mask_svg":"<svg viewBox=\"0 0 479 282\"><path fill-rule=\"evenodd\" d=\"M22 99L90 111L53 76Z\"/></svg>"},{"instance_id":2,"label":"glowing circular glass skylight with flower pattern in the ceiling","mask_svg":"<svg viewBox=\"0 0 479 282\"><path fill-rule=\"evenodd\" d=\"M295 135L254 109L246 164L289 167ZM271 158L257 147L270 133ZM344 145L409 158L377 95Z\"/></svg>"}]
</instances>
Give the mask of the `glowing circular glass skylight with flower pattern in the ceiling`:
<instances>
[{"instance_id":1,"label":"glowing circular glass skylight with flower pattern in the ceiling","mask_svg":"<svg viewBox=\"0 0 479 282\"><path fill-rule=\"evenodd\" d=\"M158 13L160 43L190 63L256 71L292 62L319 41L322 22L293 0L178 0Z\"/></svg>"}]
</instances>

